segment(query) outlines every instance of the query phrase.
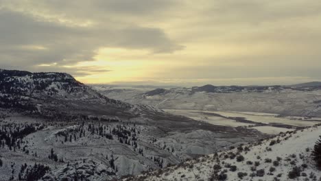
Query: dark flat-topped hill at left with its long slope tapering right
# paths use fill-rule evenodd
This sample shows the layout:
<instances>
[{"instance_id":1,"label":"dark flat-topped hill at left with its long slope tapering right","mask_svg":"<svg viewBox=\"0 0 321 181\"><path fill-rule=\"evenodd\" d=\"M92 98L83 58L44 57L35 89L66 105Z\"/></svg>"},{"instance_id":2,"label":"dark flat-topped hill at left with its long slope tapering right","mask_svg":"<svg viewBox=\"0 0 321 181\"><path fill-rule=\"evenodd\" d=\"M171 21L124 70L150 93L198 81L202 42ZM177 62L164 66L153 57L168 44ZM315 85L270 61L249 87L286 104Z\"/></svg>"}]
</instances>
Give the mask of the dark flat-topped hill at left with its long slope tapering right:
<instances>
[{"instance_id":1,"label":"dark flat-topped hill at left with its long slope tapering right","mask_svg":"<svg viewBox=\"0 0 321 181\"><path fill-rule=\"evenodd\" d=\"M91 106L89 106L91 105ZM0 107L45 117L95 115L133 117L161 112L152 106L131 105L97 93L67 73L0 71Z\"/></svg>"}]
</instances>

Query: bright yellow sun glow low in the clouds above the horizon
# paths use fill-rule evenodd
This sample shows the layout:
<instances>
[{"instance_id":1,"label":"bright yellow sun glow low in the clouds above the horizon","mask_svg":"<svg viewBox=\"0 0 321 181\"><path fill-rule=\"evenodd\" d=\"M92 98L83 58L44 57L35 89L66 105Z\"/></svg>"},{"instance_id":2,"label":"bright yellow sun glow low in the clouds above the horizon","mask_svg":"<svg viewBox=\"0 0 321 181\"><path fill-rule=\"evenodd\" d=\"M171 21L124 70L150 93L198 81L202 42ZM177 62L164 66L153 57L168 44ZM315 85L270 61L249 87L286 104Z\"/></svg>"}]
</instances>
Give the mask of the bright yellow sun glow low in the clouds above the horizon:
<instances>
[{"instance_id":1,"label":"bright yellow sun glow low in the clouds above the horizon","mask_svg":"<svg viewBox=\"0 0 321 181\"><path fill-rule=\"evenodd\" d=\"M108 72L95 73L84 77L77 77L82 82L111 83L122 80L143 81L144 77L151 77L156 66L164 62L144 60L141 58L147 51L103 48L99 49L94 61L80 62L73 67L104 67ZM130 55L130 56L129 56Z\"/></svg>"}]
</instances>

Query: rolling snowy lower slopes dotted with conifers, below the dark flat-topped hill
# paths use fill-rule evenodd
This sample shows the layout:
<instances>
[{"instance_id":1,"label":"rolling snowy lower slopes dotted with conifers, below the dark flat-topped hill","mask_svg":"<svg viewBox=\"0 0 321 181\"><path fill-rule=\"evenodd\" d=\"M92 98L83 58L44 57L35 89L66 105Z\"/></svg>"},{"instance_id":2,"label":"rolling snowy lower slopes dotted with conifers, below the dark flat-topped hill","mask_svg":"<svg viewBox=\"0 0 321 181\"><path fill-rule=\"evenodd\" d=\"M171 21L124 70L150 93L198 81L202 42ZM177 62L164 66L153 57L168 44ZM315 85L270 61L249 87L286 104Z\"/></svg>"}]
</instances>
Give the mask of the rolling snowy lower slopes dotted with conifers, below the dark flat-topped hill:
<instances>
[{"instance_id":1,"label":"rolling snowy lower slopes dotted with conifers, below the dark flat-topped hill","mask_svg":"<svg viewBox=\"0 0 321 181\"><path fill-rule=\"evenodd\" d=\"M164 119L162 121L166 122ZM152 125L152 120L146 118L132 118L128 122L67 122L0 110L1 131L22 128L27 124L40 124L43 129L26 134L19 140L19 147L17 141L10 148L9 143L4 144L7 141L5 137L0 140L0 159L3 162L0 180L9 180L12 176L19 178L21 165L25 164L29 169L35 164L48 166L50 171L43 178L47 181L75 178L77 174L88 180L112 180L213 154L231 145L257 141L263 136L259 132L238 132L236 128L222 127L215 131L172 128L173 131L164 132L163 128ZM178 123L174 125L180 128ZM115 131L119 129L123 131ZM121 142L119 135L128 132L131 133L128 141ZM108 138L108 134L113 138ZM49 158L51 149L58 160ZM114 168L110 164L112 158Z\"/></svg>"}]
</instances>

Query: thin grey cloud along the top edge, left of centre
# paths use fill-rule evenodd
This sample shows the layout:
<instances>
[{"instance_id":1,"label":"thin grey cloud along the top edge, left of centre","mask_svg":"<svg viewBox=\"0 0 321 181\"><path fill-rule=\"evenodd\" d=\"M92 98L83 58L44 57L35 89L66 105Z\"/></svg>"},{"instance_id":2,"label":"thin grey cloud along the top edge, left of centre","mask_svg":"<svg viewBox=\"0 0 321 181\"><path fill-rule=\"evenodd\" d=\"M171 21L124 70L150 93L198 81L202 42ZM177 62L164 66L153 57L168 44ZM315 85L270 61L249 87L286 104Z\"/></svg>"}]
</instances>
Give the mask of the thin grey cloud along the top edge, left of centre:
<instances>
[{"instance_id":1,"label":"thin grey cloud along the top edge, left of centre","mask_svg":"<svg viewBox=\"0 0 321 181\"><path fill-rule=\"evenodd\" d=\"M176 0L2 1L14 8L18 7L21 10L37 11L31 12L34 14L64 14L69 19L96 19L97 21L115 18L110 17L110 15L126 17L159 15L163 14L164 10L182 3L182 1Z\"/></svg>"}]
</instances>

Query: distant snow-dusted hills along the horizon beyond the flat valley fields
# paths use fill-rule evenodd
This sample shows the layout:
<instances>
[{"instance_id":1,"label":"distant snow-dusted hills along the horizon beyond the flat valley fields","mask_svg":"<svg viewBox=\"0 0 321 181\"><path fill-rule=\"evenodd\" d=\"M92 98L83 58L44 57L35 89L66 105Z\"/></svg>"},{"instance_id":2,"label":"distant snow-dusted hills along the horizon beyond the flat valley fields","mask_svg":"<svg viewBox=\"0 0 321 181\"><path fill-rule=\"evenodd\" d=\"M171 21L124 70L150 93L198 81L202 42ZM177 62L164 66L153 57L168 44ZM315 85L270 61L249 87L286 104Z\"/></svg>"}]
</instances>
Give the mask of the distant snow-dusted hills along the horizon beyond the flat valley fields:
<instances>
[{"instance_id":1,"label":"distant snow-dusted hills along the horizon beyond the flat valley fields","mask_svg":"<svg viewBox=\"0 0 321 181\"><path fill-rule=\"evenodd\" d=\"M192 88L106 89L99 93L160 109L233 110L321 117L321 87L194 86Z\"/></svg>"}]
</instances>

